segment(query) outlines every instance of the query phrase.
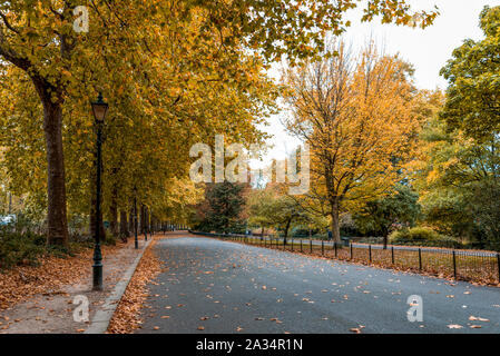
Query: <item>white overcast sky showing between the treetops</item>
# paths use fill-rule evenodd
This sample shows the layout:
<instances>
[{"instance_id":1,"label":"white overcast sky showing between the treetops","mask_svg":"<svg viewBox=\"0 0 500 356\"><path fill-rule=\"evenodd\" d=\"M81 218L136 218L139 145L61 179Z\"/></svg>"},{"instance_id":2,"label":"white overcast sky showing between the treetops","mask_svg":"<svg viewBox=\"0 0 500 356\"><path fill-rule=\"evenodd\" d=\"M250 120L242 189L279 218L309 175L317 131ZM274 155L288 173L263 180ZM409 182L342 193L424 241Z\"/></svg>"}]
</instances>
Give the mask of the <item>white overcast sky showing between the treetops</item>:
<instances>
[{"instance_id":1,"label":"white overcast sky showing between the treetops","mask_svg":"<svg viewBox=\"0 0 500 356\"><path fill-rule=\"evenodd\" d=\"M479 40L482 31L479 28L479 14L484 6L500 6L500 0L408 0L414 10L432 10L438 6L440 16L434 24L422 30L393 24L381 24L379 21L360 22L361 11L349 13L352 26L344 39L352 43L353 49L363 47L371 37L378 43L383 43L388 53L399 53L400 57L414 66L415 85L420 89L445 89L447 81L440 77L441 68L451 58L453 49L461 46L464 39ZM269 70L269 76L277 77L277 67ZM284 115L284 113L282 113ZM280 122L281 115L269 120L264 130L273 135L268 140L274 148L269 149L261 164L266 166L272 158L283 159L298 141L290 137Z\"/></svg>"}]
</instances>

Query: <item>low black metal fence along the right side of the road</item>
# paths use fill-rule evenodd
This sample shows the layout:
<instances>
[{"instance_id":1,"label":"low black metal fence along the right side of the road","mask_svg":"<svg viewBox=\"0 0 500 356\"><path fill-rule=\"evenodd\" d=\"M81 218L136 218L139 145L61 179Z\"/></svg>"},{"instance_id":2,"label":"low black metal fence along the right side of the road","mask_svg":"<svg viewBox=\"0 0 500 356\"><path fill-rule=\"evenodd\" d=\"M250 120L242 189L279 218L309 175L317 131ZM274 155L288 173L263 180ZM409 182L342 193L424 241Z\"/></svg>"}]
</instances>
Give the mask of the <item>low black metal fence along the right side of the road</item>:
<instances>
[{"instance_id":1,"label":"low black metal fence along the right side of the road","mask_svg":"<svg viewBox=\"0 0 500 356\"><path fill-rule=\"evenodd\" d=\"M284 244L283 238L275 237L197 231L192 234L331 259L427 273L455 280L500 284L500 254L498 253L391 245L384 249L383 245L353 243L345 245L304 238L288 238Z\"/></svg>"}]
</instances>

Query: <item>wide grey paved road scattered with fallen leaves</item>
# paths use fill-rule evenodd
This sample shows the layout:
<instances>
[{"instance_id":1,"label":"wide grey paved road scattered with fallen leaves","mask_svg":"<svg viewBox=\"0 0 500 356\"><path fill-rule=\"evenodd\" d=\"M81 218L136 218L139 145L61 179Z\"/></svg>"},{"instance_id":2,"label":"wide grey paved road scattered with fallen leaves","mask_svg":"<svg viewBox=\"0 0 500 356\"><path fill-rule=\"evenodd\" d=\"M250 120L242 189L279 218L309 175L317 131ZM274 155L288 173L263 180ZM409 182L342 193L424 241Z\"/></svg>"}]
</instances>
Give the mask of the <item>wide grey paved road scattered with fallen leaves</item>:
<instances>
[{"instance_id":1,"label":"wide grey paved road scattered with fallen leaves","mask_svg":"<svg viewBox=\"0 0 500 356\"><path fill-rule=\"evenodd\" d=\"M500 288L187 234L155 248L167 269L138 333L500 333ZM421 323L408 320L411 295Z\"/></svg>"}]
</instances>

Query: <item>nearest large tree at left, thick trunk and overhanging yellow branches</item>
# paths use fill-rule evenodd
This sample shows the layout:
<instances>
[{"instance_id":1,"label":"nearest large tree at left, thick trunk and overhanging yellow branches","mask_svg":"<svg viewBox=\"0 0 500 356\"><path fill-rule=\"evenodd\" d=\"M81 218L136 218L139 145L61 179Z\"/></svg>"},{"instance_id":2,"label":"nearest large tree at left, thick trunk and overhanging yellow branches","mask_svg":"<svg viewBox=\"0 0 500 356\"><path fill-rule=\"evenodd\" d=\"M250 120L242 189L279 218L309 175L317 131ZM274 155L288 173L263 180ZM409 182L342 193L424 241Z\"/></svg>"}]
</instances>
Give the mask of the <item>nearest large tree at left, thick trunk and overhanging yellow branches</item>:
<instances>
[{"instance_id":1,"label":"nearest large tree at left, thick trunk and overhanging yellow branches","mask_svg":"<svg viewBox=\"0 0 500 356\"><path fill-rule=\"evenodd\" d=\"M116 98L114 107L128 109L120 112L126 117L138 108L139 120L198 118L197 110L177 117L173 109L179 100L196 103L186 88L229 82L253 99L258 83L247 86L255 77L237 66L244 50L252 49L269 61L282 55L290 60L314 57L326 31L339 34L349 26L343 14L356 1L249 0L227 6L219 1L92 1L90 31L77 33L73 10L80 4L76 0L0 1L0 57L7 67L14 66L30 78L43 112L50 245L68 243L63 131L71 126L63 121L65 112L71 112L67 108L70 99L77 99L73 103L81 108L104 91L108 99ZM383 22L410 24L419 19L425 27L437 12L413 16L403 0L369 1L363 20L379 14ZM185 55L182 60L165 61L176 52ZM203 75L193 76L199 68ZM215 125L223 121L212 119ZM127 190L124 196L129 197L131 188Z\"/></svg>"}]
</instances>

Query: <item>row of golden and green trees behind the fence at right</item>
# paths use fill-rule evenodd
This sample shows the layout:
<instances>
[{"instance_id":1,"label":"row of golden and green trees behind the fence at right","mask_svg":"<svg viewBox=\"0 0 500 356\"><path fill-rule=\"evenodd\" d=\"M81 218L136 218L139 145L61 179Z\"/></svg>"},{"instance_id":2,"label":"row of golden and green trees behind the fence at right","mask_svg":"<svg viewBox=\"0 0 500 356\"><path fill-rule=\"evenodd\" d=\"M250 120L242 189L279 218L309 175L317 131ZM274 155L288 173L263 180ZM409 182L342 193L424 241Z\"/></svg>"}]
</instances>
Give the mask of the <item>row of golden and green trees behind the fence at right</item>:
<instances>
[{"instance_id":1,"label":"row of golden and green trees behind the fence at right","mask_svg":"<svg viewBox=\"0 0 500 356\"><path fill-rule=\"evenodd\" d=\"M285 238L295 227L340 241L350 228L385 244L419 224L500 248L500 7L480 26L484 39L464 41L443 68L445 93L418 90L412 67L373 44L355 55L337 41L337 56L284 70L287 129L311 147L310 191L247 187L239 218Z\"/></svg>"}]
</instances>

